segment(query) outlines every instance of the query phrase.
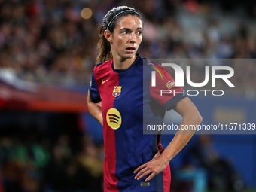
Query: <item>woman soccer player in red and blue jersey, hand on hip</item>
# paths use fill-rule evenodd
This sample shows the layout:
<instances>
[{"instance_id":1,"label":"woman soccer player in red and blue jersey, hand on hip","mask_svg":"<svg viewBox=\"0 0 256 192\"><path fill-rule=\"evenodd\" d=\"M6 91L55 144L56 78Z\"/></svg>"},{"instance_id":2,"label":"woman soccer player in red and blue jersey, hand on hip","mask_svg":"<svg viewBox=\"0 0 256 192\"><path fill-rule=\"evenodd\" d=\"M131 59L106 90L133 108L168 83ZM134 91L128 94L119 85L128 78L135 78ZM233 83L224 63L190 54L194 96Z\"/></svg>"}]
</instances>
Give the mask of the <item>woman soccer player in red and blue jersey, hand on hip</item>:
<instances>
[{"instance_id":1,"label":"woman soccer player in red and blue jersey, hand on hip","mask_svg":"<svg viewBox=\"0 0 256 192\"><path fill-rule=\"evenodd\" d=\"M167 71L163 80L156 73L156 86L151 85L151 72L163 68L136 53L142 30L139 13L126 6L108 11L99 28L99 64L93 69L88 109L103 126L105 192L169 191L169 161L194 131L178 130L163 151L159 135L143 134L143 120L162 124L165 111L174 109L183 117L181 125L196 126L202 121L197 108L182 94L160 96L168 82L170 90L183 91L175 87Z\"/></svg>"}]
</instances>

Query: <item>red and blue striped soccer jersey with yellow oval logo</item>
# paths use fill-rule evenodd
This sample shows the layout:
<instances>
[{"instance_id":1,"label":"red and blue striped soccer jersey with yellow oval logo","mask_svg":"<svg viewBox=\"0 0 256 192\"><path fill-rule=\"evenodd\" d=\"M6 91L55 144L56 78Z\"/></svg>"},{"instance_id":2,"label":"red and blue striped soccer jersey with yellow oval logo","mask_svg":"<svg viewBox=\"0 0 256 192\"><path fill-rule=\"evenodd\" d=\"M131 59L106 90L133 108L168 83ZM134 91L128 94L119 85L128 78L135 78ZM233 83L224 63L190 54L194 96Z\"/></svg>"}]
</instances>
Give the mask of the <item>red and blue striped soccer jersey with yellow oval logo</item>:
<instances>
[{"instance_id":1,"label":"red and blue striped soccer jersey with yellow oval logo","mask_svg":"<svg viewBox=\"0 0 256 192\"><path fill-rule=\"evenodd\" d=\"M147 183L148 176L136 180L133 172L150 161L157 148L163 151L159 135L143 134L143 118L151 124L162 124L165 111L184 98L182 94L160 96L160 89L176 93L183 89L175 87L166 69L136 55L125 70L114 69L112 59L93 69L90 97L93 102L102 101L105 192L166 192L170 187L169 166ZM157 84L153 87L151 72L155 69L164 70L165 77L156 73Z\"/></svg>"}]
</instances>

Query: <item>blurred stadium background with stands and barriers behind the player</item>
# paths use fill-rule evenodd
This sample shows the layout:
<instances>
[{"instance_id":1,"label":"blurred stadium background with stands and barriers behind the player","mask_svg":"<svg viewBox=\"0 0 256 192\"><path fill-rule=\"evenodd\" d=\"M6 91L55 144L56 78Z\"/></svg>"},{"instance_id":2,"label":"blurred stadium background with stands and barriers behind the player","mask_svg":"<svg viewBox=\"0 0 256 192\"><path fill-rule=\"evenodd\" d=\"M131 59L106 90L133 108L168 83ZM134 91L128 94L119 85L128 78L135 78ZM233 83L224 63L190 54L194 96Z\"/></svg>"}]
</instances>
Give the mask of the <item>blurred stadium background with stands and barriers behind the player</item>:
<instances>
[{"instance_id":1,"label":"blurred stadium background with stands and barriers behind the player","mask_svg":"<svg viewBox=\"0 0 256 192\"><path fill-rule=\"evenodd\" d=\"M254 1L0 0L0 192L102 191L87 89L97 26L118 5L142 14L144 57L256 57ZM193 67L200 82L204 68ZM256 64L232 67L233 92L192 98L205 124L255 123ZM171 161L172 191L254 191L255 162L255 135L196 135Z\"/></svg>"}]
</instances>

